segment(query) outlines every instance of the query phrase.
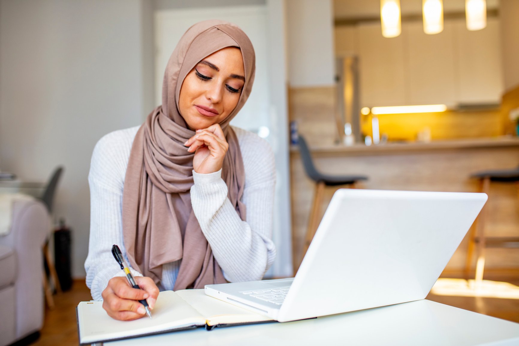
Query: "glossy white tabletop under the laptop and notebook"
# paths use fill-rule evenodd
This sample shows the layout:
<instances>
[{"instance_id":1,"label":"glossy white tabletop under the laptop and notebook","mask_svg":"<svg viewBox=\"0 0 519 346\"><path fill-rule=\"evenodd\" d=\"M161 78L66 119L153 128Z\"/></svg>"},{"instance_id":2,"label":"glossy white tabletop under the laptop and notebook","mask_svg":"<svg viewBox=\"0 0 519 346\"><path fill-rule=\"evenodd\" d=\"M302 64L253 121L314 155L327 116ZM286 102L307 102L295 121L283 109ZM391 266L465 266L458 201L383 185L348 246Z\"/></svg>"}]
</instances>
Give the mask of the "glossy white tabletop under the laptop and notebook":
<instances>
[{"instance_id":1,"label":"glossy white tabletop under the laptop and notebook","mask_svg":"<svg viewBox=\"0 0 519 346\"><path fill-rule=\"evenodd\" d=\"M104 346L345 344L519 345L519 324L424 299L304 321L175 331Z\"/></svg>"}]
</instances>

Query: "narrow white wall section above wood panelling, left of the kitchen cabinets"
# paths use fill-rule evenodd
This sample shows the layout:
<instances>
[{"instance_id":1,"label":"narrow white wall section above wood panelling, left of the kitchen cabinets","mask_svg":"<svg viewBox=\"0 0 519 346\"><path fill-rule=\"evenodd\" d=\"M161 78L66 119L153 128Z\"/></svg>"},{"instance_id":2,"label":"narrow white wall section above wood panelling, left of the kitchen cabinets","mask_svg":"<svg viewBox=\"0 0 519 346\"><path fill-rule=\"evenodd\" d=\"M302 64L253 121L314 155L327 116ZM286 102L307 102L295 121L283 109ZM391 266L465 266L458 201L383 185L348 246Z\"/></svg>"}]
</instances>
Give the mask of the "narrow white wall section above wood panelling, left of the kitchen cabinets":
<instances>
[{"instance_id":1,"label":"narrow white wall section above wood panelling, left of the kitchen cabinets","mask_svg":"<svg viewBox=\"0 0 519 346\"><path fill-rule=\"evenodd\" d=\"M286 0L286 20L290 86L333 85L331 0Z\"/></svg>"}]
</instances>

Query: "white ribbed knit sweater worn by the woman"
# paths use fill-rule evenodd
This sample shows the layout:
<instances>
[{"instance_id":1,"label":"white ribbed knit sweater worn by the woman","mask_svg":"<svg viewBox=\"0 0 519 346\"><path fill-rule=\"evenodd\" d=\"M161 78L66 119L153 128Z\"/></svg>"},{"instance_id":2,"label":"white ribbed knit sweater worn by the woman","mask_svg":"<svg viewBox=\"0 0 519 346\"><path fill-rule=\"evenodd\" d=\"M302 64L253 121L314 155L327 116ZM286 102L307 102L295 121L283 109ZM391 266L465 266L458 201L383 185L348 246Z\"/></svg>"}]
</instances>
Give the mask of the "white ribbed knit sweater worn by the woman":
<instances>
[{"instance_id":1,"label":"white ribbed knit sweater worn by the woman","mask_svg":"<svg viewBox=\"0 0 519 346\"><path fill-rule=\"evenodd\" d=\"M112 256L117 244L126 256L122 240L122 190L130 150L139 127L114 131L99 140L93 150L90 185L90 242L85 261L87 286L92 298L102 300L108 280L124 276ZM193 171L191 202L200 228L213 255L230 282L260 280L274 262L272 213L276 170L269 144L256 134L233 127L240 144L245 186L242 202L247 207L243 222L227 198L221 170L211 174ZM187 152L187 148L186 148ZM128 259L127 259L128 261ZM159 288L173 289L180 261L163 266ZM141 273L132 269L135 276Z\"/></svg>"}]
</instances>

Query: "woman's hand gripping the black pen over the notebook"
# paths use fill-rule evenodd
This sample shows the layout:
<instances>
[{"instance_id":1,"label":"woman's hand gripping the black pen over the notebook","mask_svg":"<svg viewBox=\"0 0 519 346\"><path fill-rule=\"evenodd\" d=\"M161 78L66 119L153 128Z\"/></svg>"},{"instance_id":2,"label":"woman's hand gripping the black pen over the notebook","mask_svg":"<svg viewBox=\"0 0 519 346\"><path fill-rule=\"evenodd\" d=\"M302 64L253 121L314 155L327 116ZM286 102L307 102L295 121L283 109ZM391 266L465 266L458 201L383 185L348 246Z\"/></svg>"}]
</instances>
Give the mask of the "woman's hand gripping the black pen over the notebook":
<instances>
[{"instance_id":1,"label":"woman's hand gripping the black pen over the notebook","mask_svg":"<svg viewBox=\"0 0 519 346\"><path fill-rule=\"evenodd\" d=\"M155 306L159 295L155 282L146 276L135 276L134 279L141 289L131 287L124 276L116 276L108 281L101 294L103 309L115 320L130 321L146 315L146 310L139 300L146 299L151 310Z\"/></svg>"}]
</instances>

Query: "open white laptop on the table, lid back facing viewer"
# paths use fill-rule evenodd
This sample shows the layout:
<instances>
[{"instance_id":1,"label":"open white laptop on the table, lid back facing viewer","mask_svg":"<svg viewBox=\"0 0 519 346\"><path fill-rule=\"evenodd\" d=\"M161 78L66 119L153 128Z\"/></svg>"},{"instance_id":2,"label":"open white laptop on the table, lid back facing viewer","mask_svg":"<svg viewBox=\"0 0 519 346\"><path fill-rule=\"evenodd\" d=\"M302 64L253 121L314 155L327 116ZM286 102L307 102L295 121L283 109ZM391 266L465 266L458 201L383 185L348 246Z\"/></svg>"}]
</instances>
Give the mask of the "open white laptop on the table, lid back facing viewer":
<instances>
[{"instance_id":1,"label":"open white laptop on the table, lid back facing viewer","mask_svg":"<svg viewBox=\"0 0 519 346\"><path fill-rule=\"evenodd\" d=\"M339 189L295 278L206 285L279 322L424 299L485 193Z\"/></svg>"}]
</instances>

